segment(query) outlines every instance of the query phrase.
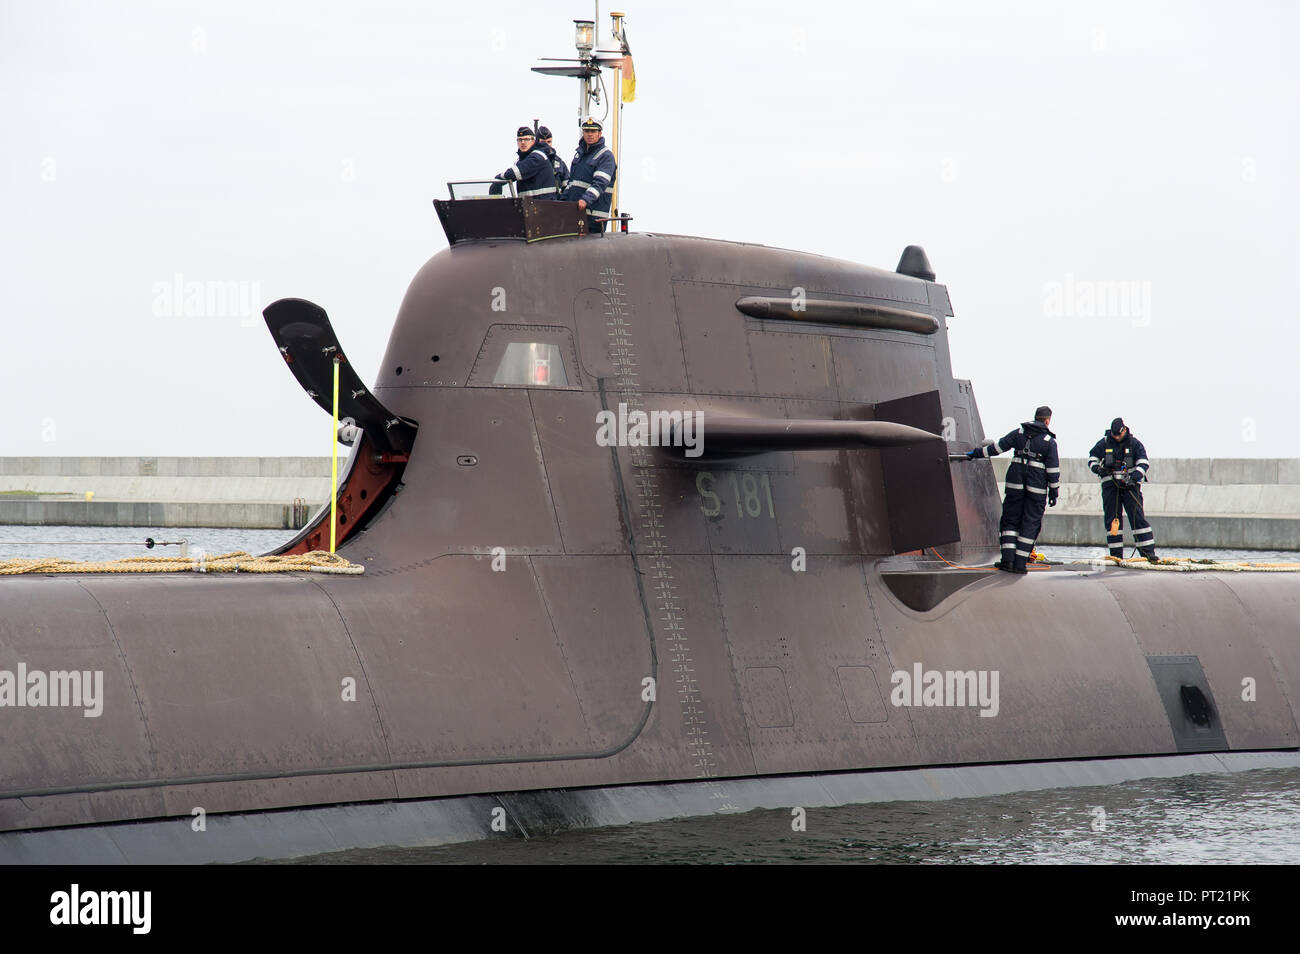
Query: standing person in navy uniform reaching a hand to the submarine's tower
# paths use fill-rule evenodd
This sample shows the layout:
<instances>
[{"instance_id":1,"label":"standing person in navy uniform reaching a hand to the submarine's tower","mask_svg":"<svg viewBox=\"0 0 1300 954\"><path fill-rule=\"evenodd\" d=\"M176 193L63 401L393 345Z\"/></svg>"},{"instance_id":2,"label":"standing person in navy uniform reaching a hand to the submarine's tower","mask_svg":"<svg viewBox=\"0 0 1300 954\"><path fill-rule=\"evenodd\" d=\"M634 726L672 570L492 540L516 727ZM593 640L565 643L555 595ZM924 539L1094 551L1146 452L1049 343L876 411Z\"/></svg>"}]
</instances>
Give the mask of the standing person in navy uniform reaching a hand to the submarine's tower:
<instances>
[{"instance_id":1,"label":"standing person in navy uniform reaching a hand to the submarine's tower","mask_svg":"<svg viewBox=\"0 0 1300 954\"><path fill-rule=\"evenodd\" d=\"M1052 408L1044 406L1004 438L966 452L967 459L994 458L1015 451L1006 469L1006 496L1002 499L1002 559L994 565L1010 573L1027 573L1026 563L1043 526L1043 512L1056 507L1061 493L1061 460L1056 434L1048 430Z\"/></svg>"}]
</instances>

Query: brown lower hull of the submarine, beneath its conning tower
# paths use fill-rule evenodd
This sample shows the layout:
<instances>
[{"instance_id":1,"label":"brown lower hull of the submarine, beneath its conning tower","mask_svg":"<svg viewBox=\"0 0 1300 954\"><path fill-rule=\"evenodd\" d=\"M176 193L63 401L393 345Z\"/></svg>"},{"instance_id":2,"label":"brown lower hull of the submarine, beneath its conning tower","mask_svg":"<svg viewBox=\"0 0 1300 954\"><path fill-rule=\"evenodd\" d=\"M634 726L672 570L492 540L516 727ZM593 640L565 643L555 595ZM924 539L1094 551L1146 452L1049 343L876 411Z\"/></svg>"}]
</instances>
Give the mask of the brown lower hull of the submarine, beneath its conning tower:
<instances>
[{"instance_id":1,"label":"brown lower hull of the submarine, beneath its conning tower","mask_svg":"<svg viewBox=\"0 0 1300 954\"><path fill-rule=\"evenodd\" d=\"M436 565L447 584L472 589L485 563L443 558ZM1284 629L1300 611L1300 591L1278 580L984 576L918 611L894 593L911 598L913 590L888 577L926 571L835 560L792 585L779 558L758 565L742 558L676 560L682 576L701 578L680 593L698 650L686 655L676 641L660 651L664 685L646 703L642 673L656 669L645 624L618 617L618 604L634 598L630 567L601 558L520 563L520 589L510 599L524 607L532 598L537 617L520 611L489 630L469 625L476 608L455 599L445 600L439 623L412 616L408 629L368 630L367 620L390 593L369 590L373 581L364 580L23 581L32 617L48 619L52 599L66 606L65 587L81 590L84 606L78 626L66 611L60 616L57 650L13 639L6 624L5 656L29 669L68 667L70 656L78 668L103 669L105 704L99 717L78 708L6 712L14 734L5 745L0 825L1257 751L1295 749L1300 740L1288 703L1300 649ZM748 589L755 580L772 598L763 606ZM566 597L578 581L603 584L603 606ZM398 577L391 585L404 582ZM722 602L707 587L716 587ZM209 608L212 617L159 611L178 598ZM294 611L296 624L276 639L256 630L264 599ZM1054 615L1032 626L1010 621L1023 617L1026 604ZM1253 628L1243 630L1234 604L1256 607ZM559 625L584 615L599 626ZM1086 633L1079 620L1088 620ZM529 630L550 638L526 645ZM231 665L231 658L242 664ZM914 704L894 706L890 675L910 676L916 664L997 672L996 712L982 715L991 707L978 697L965 706L926 704L919 689ZM675 685L675 672L689 681ZM359 677L356 702L346 701L351 673ZM1254 685L1249 699L1247 680ZM1210 701L1212 725L1196 727L1170 704L1183 685Z\"/></svg>"}]
</instances>

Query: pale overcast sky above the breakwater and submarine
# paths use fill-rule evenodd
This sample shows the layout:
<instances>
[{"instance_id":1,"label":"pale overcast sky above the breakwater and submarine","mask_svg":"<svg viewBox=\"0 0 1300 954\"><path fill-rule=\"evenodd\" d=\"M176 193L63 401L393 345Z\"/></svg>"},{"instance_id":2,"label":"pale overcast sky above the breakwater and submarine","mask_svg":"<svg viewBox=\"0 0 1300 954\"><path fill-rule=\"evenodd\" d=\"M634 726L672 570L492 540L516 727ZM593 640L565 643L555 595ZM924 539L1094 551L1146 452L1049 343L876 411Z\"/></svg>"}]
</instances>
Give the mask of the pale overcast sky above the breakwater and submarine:
<instances>
[{"instance_id":1,"label":"pale overcast sky above the breakwater and submarine","mask_svg":"<svg viewBox=\"0 0 1300 954\"><path fill-rule=\"evenodd\" d=\"M620 9L636 227L889 269L924 246L989 435L1048 403L1067 456L1123 415L1157 478L1300 456L1296 5ZM529 66L584 16L0 0L0 455L328 452L261 308L321 304L373 381L443 183L534 116L572 153L573 81ZM169 312L177 281L256 300Z\"/></svg>"}]
</instances>

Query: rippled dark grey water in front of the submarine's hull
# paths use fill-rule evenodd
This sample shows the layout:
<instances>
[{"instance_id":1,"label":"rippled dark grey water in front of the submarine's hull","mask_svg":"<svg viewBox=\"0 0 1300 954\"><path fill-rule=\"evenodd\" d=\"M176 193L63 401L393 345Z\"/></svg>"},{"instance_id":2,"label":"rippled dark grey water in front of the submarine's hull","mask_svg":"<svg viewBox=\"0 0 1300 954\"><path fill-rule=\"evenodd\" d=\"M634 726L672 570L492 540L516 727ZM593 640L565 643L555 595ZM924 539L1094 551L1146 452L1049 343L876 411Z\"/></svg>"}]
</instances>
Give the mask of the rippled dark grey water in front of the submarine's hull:
<instances>
[{"instance_id":1,"label":"rippled dark grey water in front of the submarine's hull","mask_svg":"<svg viewBox=\"0 0 1300 954\"><path fill-rule=\"evenodd\" d=\"M529 840L338 851L304 864L1296 864L1300 769L942 802L750 811Z\"/></svg>"}]
</instances>

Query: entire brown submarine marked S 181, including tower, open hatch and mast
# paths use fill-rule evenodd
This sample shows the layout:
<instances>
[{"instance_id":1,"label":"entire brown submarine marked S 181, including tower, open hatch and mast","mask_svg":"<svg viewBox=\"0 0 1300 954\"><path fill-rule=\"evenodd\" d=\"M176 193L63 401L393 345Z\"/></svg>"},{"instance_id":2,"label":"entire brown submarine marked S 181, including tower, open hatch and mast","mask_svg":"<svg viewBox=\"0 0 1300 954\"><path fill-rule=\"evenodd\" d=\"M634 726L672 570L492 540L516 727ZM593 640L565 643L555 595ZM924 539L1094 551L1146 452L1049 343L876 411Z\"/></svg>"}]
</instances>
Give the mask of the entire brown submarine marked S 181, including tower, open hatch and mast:
<instances>
[{"instance_id":1,"label":"entire brown submarine marked S 181, including tower, open hatch and mast","mask_svg":"<svg viewBox=\"0 0 1300 954\"><path fill-rule=\"evenodd\" d=\"M540 68L584 114L620 21ZM320 305L264 313L356 434L277 554L364 572L0 580L0 669L99 680L0 693L0 859L1300 764L1300 578L989 572L997 485L952 460L985 435L920 247L889 270L448 191L373 385Z\"/></svg>"}]
</instances>

